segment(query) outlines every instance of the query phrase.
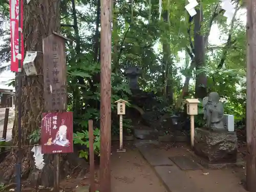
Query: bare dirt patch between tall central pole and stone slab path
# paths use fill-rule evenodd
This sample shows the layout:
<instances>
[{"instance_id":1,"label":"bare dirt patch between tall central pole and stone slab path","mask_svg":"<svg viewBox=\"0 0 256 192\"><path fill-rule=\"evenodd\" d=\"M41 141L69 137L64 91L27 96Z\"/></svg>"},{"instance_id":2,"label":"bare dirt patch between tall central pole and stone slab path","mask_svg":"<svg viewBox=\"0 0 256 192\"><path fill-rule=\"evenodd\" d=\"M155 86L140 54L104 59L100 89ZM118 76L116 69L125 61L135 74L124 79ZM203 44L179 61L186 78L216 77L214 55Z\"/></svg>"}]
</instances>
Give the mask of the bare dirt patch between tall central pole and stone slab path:
<instances>
[{"instance_id":1,"label":"bare dirt patch between tall central pole and stone slab path","mask_svg":"<svg viewBox=\"0 0 256 192\"><path fill-rule=\"evenodd\" d=\"M112 192L167 192L136 147L127 144L126 153L117 153L117 147L114 144L111 157Z\"/></svg>"}]
</instances>

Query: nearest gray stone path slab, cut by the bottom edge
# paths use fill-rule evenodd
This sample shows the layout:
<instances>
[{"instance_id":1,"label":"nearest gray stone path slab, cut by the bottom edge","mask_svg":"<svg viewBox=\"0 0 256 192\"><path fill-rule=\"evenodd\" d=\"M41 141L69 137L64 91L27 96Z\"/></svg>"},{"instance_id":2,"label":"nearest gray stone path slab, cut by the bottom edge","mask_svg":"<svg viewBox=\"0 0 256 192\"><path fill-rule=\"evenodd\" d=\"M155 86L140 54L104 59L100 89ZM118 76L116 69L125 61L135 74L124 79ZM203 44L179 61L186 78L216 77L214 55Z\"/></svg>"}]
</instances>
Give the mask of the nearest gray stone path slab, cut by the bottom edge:
<instances>
[{"instance_id":1,"label":"nearest gray stone path slab, cut by the bottom edge","mask_svg":"<svg viewBox=\"0 0 256 192\"><path fill-rule=\"evenodd\" d=\"M196 184L177 166L155 166L158 177L172 192L202 192Z\"/></svg>"}]
</instances>

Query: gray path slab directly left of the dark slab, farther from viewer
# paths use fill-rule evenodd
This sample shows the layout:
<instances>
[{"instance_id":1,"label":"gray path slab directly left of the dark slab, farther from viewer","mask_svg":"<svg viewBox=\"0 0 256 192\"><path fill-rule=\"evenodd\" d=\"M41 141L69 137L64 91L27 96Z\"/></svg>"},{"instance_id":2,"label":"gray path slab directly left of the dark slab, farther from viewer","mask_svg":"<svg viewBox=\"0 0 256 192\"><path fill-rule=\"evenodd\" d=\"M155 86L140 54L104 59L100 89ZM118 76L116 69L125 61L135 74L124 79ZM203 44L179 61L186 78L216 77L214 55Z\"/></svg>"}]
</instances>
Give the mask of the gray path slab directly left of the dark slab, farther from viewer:
<instances>
[{"instance_id":1,"label":"gray path slab directly left of the dark slab, farther from viewer","mask_svg":"<svg viewBox=\"0 0 256 192\"><path fill-rule=\"evenodd\" d=\"M138 149L146 161L152 166L174 165L174 163L169 158L159 155L157 150L154 150L154 148L150 146L147 147L142 145L138 146Z\"/></svg>"}]
</instances>

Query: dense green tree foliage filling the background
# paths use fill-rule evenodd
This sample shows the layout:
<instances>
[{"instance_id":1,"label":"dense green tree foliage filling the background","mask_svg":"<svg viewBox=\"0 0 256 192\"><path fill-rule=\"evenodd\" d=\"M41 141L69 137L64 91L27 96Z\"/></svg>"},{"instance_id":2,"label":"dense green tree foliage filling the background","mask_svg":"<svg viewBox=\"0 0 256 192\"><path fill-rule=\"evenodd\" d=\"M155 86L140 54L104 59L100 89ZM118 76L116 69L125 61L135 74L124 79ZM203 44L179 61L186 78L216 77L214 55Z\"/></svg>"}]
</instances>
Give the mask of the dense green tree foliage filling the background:
<instances>
[{"instance_id":1,"label":"dense green tree foliage filling the background","mask_svg":"<svg viewBox=\"0 0 256 192\"><path fill-rule=\"evenodd\" d=\"M0 64L10 60L10 30L3 26L9 20L8 3L6 0L0 1L0 36L4 42L0 45ZM102 55L100 55L100 34L97 32L100 31L97 1L77 0L75 3L77 12L75 16L78 21L75 27L78 28L78 33L73 27L62 27L61 33L73 39L66 44L68 111L73 111L74 131L82 134L83 131L88 130L89 119L93 119L94 124L99 126L100 57ZM172 115L175 111L175 102L180 97L194 97L195 81L199 86L205 84L196 76L203 74L207 78L207 92L216 91L226 99L225 113L234 115L236 121L244 119L245 25L238 17L234 19L233 25L227 24L223 13L218 13L220 1L206 0L201 3L204 18L199 32L207 37L210 28L213 28L210 22L214 18L212 23L215 25L214 28L218 27L221 30L222 42L215 45L215 42L208 39L205 54L202 54L205 56L205 66L195 69L190 67L191 57L195 56L193 48L200 45L194 39L195 18L189 24L188 14L184 11L186 1L163 0L160 19L159 1L134 1L132 7L124 0L114 2L111 62L113 113L116 112L114 101L120 98L129 101L132 94L125 77L125 69L129 66L137 66L141 72L138 82L143 91L154 92L161 102L168 102L167 88L169 93L174 95L174 102L166 104L161 111L163 113ZM71 2L60 1L60 4L61 23L73 25ZM219 7L216 9L217 5ZM242 11L241 7L239 9ZM191 26L190 34L188 34L189 26ZM230 42L227 41L226 34L231 35ZM211 36L215 36L216 41L219 38L216 34ZM0 66L0 72L5 69ZM185 77L190 78L190 84L181 95ZM29 78L28 81L32 79ZM14 85L14 81L11 83ZM127 103L127 106L130 104L133 103ZM196 123L200 126L204 123L201 112L202 106L200 106L199 115L196 116ZM131 133L131 125L131 120L123 119L123 127L128 134ZM117 118L112 118L112 134L119 134ZM39 131L34 131L28 139L32 143L38 143Z\"/></svg>"}]
</instances>

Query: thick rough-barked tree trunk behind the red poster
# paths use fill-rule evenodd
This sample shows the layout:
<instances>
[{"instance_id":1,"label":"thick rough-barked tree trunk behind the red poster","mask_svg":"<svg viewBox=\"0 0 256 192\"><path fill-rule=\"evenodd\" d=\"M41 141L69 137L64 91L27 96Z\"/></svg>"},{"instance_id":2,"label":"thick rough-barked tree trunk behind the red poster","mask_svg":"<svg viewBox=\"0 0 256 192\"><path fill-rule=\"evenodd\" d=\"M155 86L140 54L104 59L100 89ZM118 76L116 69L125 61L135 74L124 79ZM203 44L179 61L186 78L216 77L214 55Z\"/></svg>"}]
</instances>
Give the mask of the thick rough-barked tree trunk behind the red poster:
<instances>
[{"instance_id":1,"label":"thick rough-barked tree trunk behind the red poster","mask_svg":"<svg viewBox=\"0 0 256 192\"><path fill-rule=\"evenodd\" d=\"M53 31L59 32L60 0L34 0L27 4L24 2L24 45L25 51L38 51L35 59L37 76L22 76L22 145L29 145L28 136L40 127L41 114L44 112L44 77L42 76L42 38L52 34ZM16 87L17 88L17 87ZM17 93L17 89L16 89ZM16 102L17 109L17 102ZM17 129L17 110L12 131L13 144L18 142ZM28 177L34 168L31 154L31 147L23 148L22 176ZM17 160L17 150L13 149L6 159L0 164L0 176L10 181L15 176L15 164ZM44 185L51 185L53 182L52 156L46 157L44 170L37 175L37 178ZM1 178L0 177L0 178Z\"/></svg>"}]
</instances>

